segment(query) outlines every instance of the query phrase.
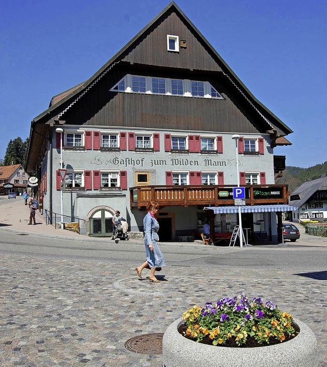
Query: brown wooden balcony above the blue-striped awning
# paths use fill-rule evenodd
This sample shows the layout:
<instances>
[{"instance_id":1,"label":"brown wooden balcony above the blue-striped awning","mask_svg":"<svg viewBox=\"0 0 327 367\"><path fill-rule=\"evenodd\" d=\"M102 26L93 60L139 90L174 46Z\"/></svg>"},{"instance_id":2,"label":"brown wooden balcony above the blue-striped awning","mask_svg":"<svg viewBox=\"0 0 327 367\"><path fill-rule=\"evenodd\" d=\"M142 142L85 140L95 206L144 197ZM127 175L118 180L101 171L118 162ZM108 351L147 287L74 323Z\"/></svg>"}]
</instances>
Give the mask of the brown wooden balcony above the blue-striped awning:
<instances>
[{"instance_id":1,"label":"brown wooden balcony above the blue-striped awning","mask_svg":"<svg viewBox=\"0 0 327 367\"><path fill-rule=\"evenodd\" d=\"M235 186L135 186L130 188L131 208L145 207L149 201L164 206L234 205ZM288 204L287 185L246 185L246 205Z\"/></svg>"}]
</instances>

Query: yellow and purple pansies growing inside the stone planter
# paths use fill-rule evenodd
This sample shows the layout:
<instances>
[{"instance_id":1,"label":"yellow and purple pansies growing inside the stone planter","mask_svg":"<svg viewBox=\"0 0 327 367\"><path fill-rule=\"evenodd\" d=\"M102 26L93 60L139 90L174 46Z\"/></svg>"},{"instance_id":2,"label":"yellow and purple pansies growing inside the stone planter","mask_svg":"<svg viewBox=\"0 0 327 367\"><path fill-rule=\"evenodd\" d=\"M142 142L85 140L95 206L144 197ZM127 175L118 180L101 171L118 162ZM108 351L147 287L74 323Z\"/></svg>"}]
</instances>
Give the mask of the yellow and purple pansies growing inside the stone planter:
<instances>
[{"instance_id":1,"label":"yellow and purple pansies growing inside the stone planter","mask_svg":"<svg viewBox=\"0 0 327 367\"><path fill-rule=\"evenodd\" d=\"M248 299L244 293L183 313L179 332L186 338L226 347L261 347L291 340L299 328L293 317L272 302Z\"/></svg>"}]
</instances>

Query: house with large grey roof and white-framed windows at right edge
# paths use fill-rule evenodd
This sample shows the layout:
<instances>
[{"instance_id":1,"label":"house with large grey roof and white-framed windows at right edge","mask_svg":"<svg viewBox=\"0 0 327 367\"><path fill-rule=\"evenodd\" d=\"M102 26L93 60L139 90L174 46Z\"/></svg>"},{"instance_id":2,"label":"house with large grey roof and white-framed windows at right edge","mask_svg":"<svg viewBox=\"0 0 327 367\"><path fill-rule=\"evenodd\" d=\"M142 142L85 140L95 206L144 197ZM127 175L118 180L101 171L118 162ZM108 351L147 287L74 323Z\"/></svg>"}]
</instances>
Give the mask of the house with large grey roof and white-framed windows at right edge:
<instances>
[{"instance_id":1,"label":"house with large grey roof and white-framed windows at right edge","mask_svg":"<svg viewBox=\"0 0 327 367\"><path fill-rule=\"evenodd\" d=\"M327 177L320 175L316 180L308 180L290 195L290 204L298 207L293 221L327 221Z\"/></svg>"}]
</instances>

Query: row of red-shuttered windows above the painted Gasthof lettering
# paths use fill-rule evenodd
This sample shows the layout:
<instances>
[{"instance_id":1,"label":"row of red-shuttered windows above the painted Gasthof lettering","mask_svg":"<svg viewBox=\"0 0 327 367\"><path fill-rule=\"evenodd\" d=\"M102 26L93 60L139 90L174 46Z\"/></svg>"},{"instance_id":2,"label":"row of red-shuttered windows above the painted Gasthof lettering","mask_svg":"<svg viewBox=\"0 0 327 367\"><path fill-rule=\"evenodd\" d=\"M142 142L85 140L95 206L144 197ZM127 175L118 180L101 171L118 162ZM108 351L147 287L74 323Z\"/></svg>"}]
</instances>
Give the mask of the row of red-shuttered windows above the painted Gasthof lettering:
<instances>
[{"instance_id":1,"label":"row of red-shuttered windows above the painted Gasthof lettering","mask_svg":"<svg viewBox=\"0 0 327 367\"><path fill-rule=\"evenodd\" d=\"M165 151L189 151L203 153L223 153L223 137L200 135L165 134ZM128 141L128 144L127 144ZM63 136L64 147L80 147L85 149L120 149L120 150L153 150L160 151L160 134L138 133L102 133L99 131L66 132ZM57 134L57 148L60 148L60 133ZM239 153L264 154L263 138L241 137L238 145Z\"/></svg>"}]
</instances>

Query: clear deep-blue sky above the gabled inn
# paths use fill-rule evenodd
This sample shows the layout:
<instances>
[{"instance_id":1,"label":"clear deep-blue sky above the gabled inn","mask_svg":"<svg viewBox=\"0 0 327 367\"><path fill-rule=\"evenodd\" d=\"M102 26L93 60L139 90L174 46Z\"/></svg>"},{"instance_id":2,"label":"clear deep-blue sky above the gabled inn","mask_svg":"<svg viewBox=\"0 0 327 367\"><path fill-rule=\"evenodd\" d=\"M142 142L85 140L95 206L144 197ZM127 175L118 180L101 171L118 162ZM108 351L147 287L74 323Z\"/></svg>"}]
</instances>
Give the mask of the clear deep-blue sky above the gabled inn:
<instances>
[{"instance_id":1,"label":"clear deep-blue sky above the gabled inn","mask_svg":"<svg viewBox=\"0 0 327 367\"><path fill-rule=\"evenodd\" d=\"M91 77L169 0L2 0L0 158L51 97ZM247 88L294 133L286 164L327 160L327 2L176 0Z\"/></svg>"}]
</instances>

